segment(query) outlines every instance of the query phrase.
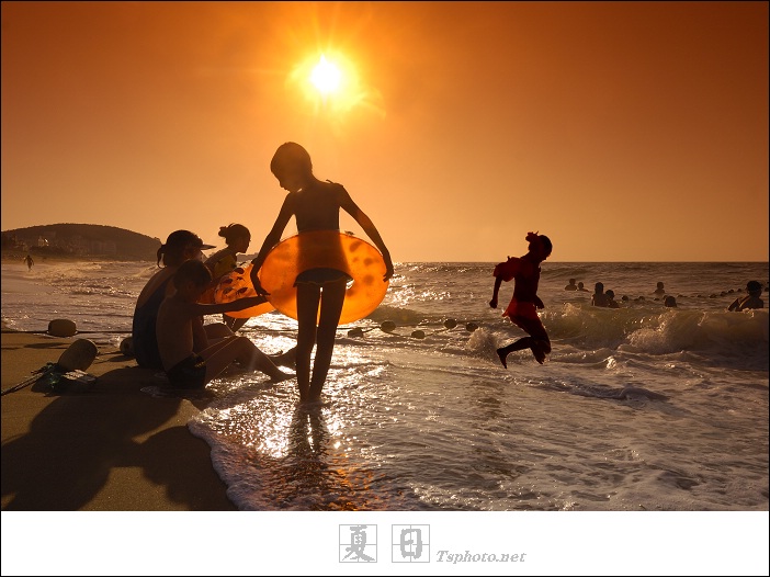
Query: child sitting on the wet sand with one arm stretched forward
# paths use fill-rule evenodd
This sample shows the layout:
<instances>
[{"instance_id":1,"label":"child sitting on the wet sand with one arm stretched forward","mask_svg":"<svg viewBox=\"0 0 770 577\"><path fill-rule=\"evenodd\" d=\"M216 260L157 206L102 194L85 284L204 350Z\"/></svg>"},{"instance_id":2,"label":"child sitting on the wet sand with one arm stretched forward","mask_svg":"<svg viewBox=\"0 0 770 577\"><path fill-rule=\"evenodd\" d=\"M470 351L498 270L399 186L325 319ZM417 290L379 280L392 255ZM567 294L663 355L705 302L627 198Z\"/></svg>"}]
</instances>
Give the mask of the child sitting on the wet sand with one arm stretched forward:
<instances>
[{"instance_id":1,"label":"child sitting on the wet sand with one arm stretched forward","mask_svg":"<svg viewBox=\"0 0 770 577\"><path fill-rule=\"evenodd\" d=\"M265 301L264 296L249 296L230 303L201 304L197 301L211 281L212 273L203 262L186 260L173 273L175 292L160 304L156 330L169 384L174 388L203 388L233 361L248 371L263 372L274 383L291 378L248 337L233 335L195 352L194 342L206 338L204 315L241 310Z\"/></svg>"}]
</instances>

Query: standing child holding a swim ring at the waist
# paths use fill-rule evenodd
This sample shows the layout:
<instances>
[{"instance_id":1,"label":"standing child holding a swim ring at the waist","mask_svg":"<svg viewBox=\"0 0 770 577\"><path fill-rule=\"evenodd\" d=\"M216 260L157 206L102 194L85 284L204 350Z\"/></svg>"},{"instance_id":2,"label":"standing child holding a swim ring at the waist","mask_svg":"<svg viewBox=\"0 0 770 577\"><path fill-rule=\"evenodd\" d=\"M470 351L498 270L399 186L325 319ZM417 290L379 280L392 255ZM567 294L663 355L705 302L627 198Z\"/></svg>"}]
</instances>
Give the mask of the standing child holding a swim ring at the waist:
<instances>
[{"instance_id":1,"label":"standing child holding a swim ring at the waist","mask_svg":"<svg viewBox=\"0 0 770 577\"><path fill-rule=\"evenodd\" d=\"M318 180L313 173L310 155L296 143L282 144L270 162L270 170L281 188L288 191L273 228L251 262L251 282L257 294L267 295L258 273L270 250L281 240L281 235L292 216L297 230L339 230L340 208L350 214L364 229L385 260L385 275L393 276L393 262L385 242L380 237L374 223L353 202L344 186L335 182ZM329 268L309 269L295 281L297 288L297 349L296 371L301 401L320 399L326 382L342 304L350 278L347 273ZM320 319L318 312L320 309ZM316 346L316 354L310 373L310 357Z\"/></svg>"}]
</instances>

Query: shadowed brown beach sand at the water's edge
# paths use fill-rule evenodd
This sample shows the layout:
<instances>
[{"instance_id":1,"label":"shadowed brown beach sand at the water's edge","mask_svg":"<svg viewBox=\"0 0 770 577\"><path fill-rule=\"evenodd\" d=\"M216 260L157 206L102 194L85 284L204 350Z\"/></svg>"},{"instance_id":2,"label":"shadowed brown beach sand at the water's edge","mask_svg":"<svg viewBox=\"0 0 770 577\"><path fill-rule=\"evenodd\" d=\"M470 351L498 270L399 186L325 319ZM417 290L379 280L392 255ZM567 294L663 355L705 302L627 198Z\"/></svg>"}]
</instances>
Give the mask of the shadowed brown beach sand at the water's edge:
<instances>
[{"instance_id":1,"label":"shadowed brown beach sand at the water's edge","mask_svg":"<svg viewBox=\"0 0 770 577\"><path fill-rule=\"evenodd\" d=\"M2 329L2 388L79 338ZM37 382L2 397L2 510L231 511L208 444L186 427L202 403L154 397L155 371L100 346L84 392ZM201 406L196 406L201 405Z\"/></svg>"}]
</instances>

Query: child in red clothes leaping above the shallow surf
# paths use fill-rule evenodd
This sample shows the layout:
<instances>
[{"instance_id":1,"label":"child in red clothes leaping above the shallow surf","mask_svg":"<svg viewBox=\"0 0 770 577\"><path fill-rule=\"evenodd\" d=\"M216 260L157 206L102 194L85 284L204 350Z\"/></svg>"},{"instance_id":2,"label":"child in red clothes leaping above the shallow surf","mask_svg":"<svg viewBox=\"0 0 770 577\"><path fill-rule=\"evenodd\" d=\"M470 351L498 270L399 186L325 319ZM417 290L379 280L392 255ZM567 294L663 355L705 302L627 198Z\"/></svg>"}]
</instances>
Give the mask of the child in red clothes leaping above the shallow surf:
<instances>
[{"instance_id":1,"label":"child in red clothes leaping above the shallow surf","mask_svg":"<svg viewBox=\"0 0 770 577\"><path fill-rule=\"evenodd\" d=\"M526 254L520 258L508 257L506 262L498 263L492 271L495 288L489 306L497 308L500 285L503 281L513 280L513 296L502 316L508 317L511 323L529 335L497 349L497 355L506 369L508 369L506 359L513 351L531 349L540 364L543 364L545 355L551 352L551 339L535 308L545 308L543 301L537 296L540 263L551 256L553 245L548 237L537 233L528 233L525 240L529 242Z\"/></svg>"}]
</instances>

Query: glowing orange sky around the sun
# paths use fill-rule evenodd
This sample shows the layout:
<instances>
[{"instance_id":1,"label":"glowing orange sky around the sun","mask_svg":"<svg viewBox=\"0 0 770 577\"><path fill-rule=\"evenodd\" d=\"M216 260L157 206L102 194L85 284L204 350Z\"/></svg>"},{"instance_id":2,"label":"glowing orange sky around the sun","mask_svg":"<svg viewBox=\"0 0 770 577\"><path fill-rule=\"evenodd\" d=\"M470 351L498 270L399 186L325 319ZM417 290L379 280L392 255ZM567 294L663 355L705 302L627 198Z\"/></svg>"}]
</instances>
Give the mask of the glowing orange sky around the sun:
<instances>
[{"instance_id":1,"label":"glowing orange sky around the sun","mask_svg":"<svg viewBox=\"0 0 770 577\"><path fill-rule=\"evenodd\" d=\"M257 251L286 140L397 262L767 261L768 2L2 2L3 230Z\"/></svg>"}]
</instances>

